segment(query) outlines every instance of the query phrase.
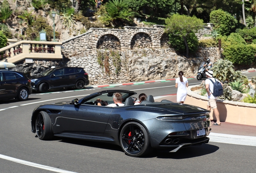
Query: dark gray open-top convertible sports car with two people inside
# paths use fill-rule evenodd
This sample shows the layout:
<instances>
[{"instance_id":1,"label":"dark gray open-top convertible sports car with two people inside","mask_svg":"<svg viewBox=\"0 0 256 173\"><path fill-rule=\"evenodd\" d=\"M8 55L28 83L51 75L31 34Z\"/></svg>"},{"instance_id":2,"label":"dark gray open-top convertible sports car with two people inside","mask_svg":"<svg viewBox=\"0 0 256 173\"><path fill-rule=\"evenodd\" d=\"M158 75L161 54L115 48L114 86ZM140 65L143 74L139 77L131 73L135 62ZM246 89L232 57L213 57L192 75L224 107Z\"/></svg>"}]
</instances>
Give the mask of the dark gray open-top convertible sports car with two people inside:
<instances>
[{"instance_id":1,"label":"dark gray open-top convertible sports car with two people inside","mask_svg":"<svg viewBox=\"0 0 256 173\"><path fill-rule=\"evenodd\" d=\"M96 99L113 103L116 92L122 93L124 106L97 106ZM155 102L151 95L134 105L131 96L135 94L107 90L80 100L41 105L33 111L32 132L41 140L57 136L113 143L132 157L146 155L152 148L175 152L209 142L210 111L167 100Z\"/></svg>"}]
</instances>

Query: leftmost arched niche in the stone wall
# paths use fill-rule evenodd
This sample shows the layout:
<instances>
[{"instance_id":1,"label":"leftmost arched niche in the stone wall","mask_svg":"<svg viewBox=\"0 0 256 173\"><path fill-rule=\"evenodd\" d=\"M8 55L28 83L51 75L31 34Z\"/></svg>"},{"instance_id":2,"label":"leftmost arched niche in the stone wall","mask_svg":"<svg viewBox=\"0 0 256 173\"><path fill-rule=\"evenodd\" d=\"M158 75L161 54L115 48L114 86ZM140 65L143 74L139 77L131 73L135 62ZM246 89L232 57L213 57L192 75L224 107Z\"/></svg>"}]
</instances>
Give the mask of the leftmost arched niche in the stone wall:
<instances>
[{"instance_id":1,"label":"leftmost arched niche in the stone wall","mask_svg":"<svg viewBox=\"0 0 256 173\"><path fill-rule=\"evenodd\" d=\"M120 40L113 34L105 34L99 38L97 49L121 49Z\"/></svg>"}]
</instances>

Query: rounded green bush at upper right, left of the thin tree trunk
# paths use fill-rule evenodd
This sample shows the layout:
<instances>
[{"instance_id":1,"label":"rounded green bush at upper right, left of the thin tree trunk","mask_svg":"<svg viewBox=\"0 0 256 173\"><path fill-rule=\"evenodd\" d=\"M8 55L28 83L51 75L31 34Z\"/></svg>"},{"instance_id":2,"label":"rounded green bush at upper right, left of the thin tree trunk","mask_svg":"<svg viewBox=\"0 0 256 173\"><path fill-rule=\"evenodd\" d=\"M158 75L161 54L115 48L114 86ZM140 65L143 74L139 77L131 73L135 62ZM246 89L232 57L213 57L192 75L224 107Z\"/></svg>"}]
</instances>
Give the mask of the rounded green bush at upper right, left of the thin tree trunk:
<instances>
[{"instance_id":1,"label":"rounded green bush at upper right, left of the thin tree trunk","mask_svg":"<svg viewBox=\"0 0 256 173\"><path fill-rule=\"evenodd\" d=\"M228 12L221 9L213 10L210 14L210 22L221 35L229 35L235 31L237 20Z\"/></svg>"}]
</instances>

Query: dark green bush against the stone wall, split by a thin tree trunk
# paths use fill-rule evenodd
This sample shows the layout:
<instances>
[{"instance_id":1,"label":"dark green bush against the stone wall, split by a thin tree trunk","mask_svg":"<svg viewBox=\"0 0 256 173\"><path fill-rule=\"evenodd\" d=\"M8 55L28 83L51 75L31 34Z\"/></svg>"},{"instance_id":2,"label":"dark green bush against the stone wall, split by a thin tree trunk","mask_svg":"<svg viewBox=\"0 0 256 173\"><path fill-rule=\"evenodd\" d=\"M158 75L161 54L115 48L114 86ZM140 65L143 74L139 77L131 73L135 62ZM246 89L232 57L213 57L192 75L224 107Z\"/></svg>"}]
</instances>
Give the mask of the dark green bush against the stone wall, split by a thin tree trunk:
<instances>
[{"instance_id":1,"label":"dark green bush against the stone wall, split by a thin tree trunk","mask_svg":"<svg viewBox=\"0 0 256 173\"><path fill-rule=\"evenodd\" d=\"M195 52L198 49L198 38L196 37L194 32L189 33L186 36L186 39L188 42L189 51ZM171 47L179 52L186 52L186 45L184 39L180 35L169 33L169 44L171 44Z\"/></svg>"}]
</instances>

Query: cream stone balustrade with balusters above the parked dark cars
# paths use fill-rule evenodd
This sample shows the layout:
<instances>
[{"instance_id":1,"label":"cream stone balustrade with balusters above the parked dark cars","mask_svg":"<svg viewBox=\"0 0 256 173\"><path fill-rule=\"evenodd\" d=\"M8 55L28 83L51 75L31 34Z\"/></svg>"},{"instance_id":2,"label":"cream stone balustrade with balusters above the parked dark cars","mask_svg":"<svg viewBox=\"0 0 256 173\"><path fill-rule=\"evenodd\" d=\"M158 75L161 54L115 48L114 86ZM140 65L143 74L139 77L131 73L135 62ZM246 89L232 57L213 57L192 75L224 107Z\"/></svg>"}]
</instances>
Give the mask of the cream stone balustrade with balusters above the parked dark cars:
<instances>
[{"instance_id":1,"label":"cream stone balustrade with balusters above the parked dark cars","mask_svg":"<svg viewBox=\"0 0 256 173\"><path fill-rule=\"evenodd\" d=\"M19 62L26 58L62 59L62 42L23 40L0 49L0 62Z\"/></svg>"}]
</instances>

